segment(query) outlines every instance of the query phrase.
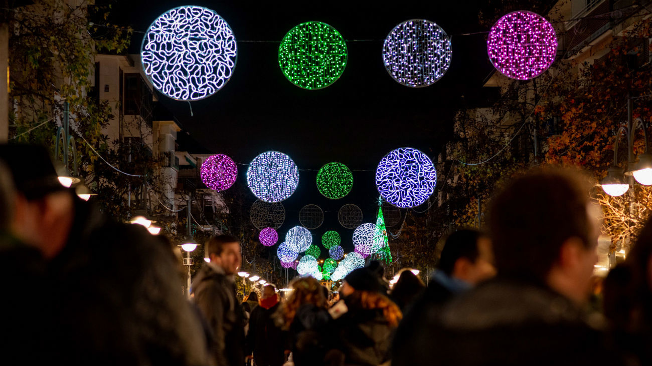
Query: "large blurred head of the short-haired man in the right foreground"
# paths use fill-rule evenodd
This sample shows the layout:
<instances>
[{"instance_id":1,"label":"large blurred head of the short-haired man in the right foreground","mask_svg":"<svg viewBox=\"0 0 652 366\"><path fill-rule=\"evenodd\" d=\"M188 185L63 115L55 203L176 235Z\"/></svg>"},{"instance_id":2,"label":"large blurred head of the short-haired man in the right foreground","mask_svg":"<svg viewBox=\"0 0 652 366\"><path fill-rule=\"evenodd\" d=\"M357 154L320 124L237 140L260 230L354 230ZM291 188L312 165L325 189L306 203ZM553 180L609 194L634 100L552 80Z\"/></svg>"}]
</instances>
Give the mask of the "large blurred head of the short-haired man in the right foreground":
<instances>
[{"instance_id":1,"label":"large blurred head of the short-haired man in the right foreground","mask_svg":"<svg viewBox=\"0 0 652 366\"><path fill-rule=\"evenodd\" d=\"M498 274L584 302L597 261L599 207L576 171L536 169L494 197L489 227Z\"/></svg>"}]
</instances>

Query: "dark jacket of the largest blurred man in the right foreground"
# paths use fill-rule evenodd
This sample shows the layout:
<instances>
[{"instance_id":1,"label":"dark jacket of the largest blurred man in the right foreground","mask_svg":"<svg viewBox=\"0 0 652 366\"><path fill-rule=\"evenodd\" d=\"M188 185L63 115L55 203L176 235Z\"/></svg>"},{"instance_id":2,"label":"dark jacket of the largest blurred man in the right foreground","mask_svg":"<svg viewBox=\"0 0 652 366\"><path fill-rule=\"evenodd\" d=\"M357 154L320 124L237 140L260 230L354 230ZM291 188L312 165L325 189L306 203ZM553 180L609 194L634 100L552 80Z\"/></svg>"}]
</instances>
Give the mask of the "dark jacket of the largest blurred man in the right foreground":
<instances>
[{"instance_id":1,"label":"dark jacket of the largest blurred man in the right foreground","mask_svg":"<svg viewBox=\"0 0 652 366\"><path fill-rule=\"evenodd\" d=\"M602 332L541 285L494 279L424 313L413 365L614 364Z\"/></svg>"}]
</instances>

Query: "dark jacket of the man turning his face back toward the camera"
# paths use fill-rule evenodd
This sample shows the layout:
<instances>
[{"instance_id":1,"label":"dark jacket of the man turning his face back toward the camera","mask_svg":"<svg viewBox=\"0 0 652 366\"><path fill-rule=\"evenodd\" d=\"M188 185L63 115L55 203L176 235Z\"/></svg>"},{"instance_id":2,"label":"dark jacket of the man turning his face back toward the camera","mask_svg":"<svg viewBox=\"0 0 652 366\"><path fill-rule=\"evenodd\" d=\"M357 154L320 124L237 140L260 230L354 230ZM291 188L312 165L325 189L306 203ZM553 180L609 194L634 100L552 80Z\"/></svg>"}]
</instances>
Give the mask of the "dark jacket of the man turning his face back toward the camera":
<instances>
[{"instance_id":1,"label":"dark jacket of the man turning his face back toward the camera","mask_svg":"<svg viewBox=\"0 0 652 366\"><path fill-rule=\"evenodd\" d=\"M244 362L244 311L235 296L231 277L220 266L205 263L191 287L195 303L213 330L217 365L241 365Z\"/></svg>"}]
</instances>

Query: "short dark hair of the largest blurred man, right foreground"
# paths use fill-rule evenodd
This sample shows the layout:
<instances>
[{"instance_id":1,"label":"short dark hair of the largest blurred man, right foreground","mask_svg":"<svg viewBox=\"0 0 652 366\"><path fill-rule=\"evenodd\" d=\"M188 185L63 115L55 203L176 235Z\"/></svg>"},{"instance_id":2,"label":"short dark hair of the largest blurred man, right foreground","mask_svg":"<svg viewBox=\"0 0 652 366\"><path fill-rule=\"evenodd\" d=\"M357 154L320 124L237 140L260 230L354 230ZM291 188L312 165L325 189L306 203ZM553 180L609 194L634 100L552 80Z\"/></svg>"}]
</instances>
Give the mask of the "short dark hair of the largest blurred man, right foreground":
<instances>
[{"instance_id":1,"label":"short dark hair of the largest blurred man, right foreground","mask_svg":"<svg viewBox=\"0 0 652 366\"><path fill-rule=\"evenodd\" d=\"M589 181L578 171L535 169L496 195L489 227L499 275L544 281L569 238L592 243Z\"/></svg>"}]
</instances>

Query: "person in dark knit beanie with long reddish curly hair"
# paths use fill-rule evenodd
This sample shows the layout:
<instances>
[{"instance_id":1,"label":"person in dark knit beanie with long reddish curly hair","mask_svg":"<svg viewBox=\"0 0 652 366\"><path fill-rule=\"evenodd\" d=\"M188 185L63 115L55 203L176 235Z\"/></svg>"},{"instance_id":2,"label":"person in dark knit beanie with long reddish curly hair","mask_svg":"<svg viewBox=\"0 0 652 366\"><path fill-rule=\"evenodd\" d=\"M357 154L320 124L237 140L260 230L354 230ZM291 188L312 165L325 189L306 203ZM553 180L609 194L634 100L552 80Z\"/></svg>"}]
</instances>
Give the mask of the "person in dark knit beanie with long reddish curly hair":
<instances>
[{"instance_id":1,"label":"person in dark knit beanie with long reddish curly hair","mask_svg":"<svg viewBox=\"0 0 652 366\"><path fill-rule=\"evenodd\" d=\"M392 337L402 314L385 294L381 271L376 265L353 270L344 277L342 300L331 308L346 365L382 365L391 359Z\"/></svg>"}]
</instances>

